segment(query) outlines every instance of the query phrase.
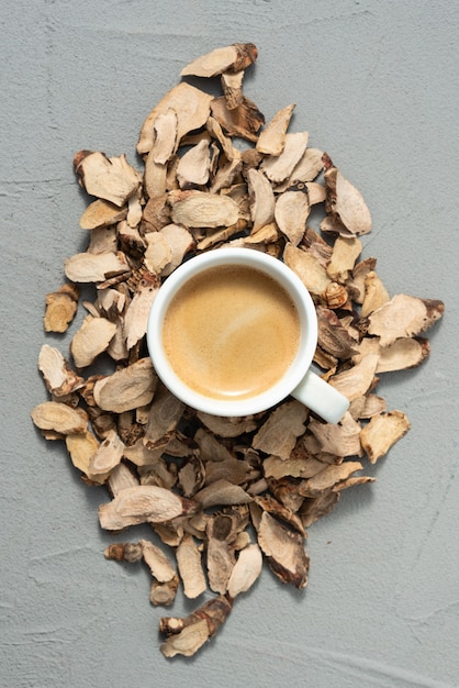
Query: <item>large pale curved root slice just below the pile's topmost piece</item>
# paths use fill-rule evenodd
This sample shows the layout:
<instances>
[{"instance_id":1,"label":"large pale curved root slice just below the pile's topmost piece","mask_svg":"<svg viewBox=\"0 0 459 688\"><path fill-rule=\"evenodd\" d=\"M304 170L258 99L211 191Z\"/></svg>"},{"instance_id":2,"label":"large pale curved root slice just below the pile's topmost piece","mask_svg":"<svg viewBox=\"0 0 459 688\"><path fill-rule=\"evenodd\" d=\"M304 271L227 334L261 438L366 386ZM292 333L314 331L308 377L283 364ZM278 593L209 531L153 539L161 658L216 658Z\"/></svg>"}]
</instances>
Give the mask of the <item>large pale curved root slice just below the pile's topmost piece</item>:
<instances>
[{"instance_id":1,"label":"large pale curved root slice just below the pile's topmost piece","mask_svg":"<svg viewBox=\"0 0 459 688\"><path fill-rule=\"evenodd\" d=\"M186 81L175 86L153 108L143 123L137 143L137 153L144 155L152 149L154 144L154 123L159 114L166 114L169 110L176 112L177 146L188 132L198 130L205 124L212 100L212 96L194 88L194 86L190 86Z\"/></svg>"}]
</instances>

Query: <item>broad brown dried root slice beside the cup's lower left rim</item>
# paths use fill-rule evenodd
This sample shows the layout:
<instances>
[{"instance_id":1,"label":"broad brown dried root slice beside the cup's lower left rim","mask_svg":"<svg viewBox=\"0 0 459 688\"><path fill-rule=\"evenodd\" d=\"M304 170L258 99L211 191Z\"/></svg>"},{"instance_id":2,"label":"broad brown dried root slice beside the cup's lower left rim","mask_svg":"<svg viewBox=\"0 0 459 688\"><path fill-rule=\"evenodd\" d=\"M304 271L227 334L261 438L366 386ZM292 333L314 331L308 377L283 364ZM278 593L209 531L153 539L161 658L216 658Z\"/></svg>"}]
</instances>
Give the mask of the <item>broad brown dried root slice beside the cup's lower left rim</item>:
<instances>
[{"instance_id":1,"label":"broad brown dried root slice beside the cup's lower left rim","mask_svg":"<svg viewBox=\"0 0 459 688\"><path fill-rule=\"evenodd\" d=\"M158 378L149 358L141 358L126 368L103 377L94 385L94 400L104 411L123 413L149 403Z\"/></svg>"}]
</instances>

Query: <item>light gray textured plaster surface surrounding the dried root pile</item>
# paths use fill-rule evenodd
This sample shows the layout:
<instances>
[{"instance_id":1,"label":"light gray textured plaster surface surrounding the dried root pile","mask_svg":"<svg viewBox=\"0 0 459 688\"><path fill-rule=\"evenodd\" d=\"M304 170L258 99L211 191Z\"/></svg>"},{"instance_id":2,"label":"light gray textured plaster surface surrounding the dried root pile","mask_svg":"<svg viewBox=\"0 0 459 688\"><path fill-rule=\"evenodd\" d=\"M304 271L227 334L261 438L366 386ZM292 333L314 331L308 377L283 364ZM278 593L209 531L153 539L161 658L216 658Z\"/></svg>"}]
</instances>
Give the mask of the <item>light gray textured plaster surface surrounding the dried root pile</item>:
<instances>
[{"instance_id":1,"label":"light gray textured plaster surface surrounding the dried root pile","mask_svg":"<svg viewBox=\"0 0 459 688\"><path fill-rule=\"evenodd\" d=\"M451 0L1 2L1 655L4 687L313 688L459 685L457 442L459 4ZM139 126L181 67L258 45L245 91L269 119L298 103L362 191L365 256L392 295L446 302L432 357L384 376L412 430L310 530L303 592L265 570L191 661L158 651L148 576L105 562L89 489L30 410L44 295L82 249L81 147L135 158ZM75 326L71 332L75 331ZM49 337L67 351L69 337ZM190 608L181 597L173 608Z\"/></svg>"}]
</instances>

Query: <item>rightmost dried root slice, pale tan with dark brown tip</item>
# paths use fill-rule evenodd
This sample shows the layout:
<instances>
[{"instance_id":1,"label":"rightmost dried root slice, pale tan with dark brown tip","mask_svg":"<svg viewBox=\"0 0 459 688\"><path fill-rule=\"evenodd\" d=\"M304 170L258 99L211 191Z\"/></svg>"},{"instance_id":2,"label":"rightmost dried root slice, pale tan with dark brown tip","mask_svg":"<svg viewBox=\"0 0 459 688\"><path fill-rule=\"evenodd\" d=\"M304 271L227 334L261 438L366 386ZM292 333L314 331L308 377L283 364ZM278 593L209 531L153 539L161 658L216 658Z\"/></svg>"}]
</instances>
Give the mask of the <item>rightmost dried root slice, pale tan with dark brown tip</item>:
<instances>
[{"instance_id":1,"label":"rightmost dried root slice, pale tan with dark brown tip","mask_svg":"<svg viewBox=\"0 0 459 688\"><path fill-rule=\"evenodd\" d=\"M444 312L443 301L399 293L368 317L368 333L379 336L381 346L389 346L400 337L425 332Z\"/></svg>"}]
</instances>

